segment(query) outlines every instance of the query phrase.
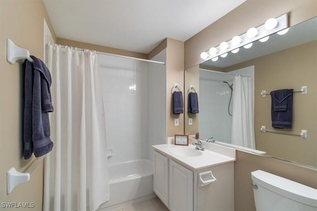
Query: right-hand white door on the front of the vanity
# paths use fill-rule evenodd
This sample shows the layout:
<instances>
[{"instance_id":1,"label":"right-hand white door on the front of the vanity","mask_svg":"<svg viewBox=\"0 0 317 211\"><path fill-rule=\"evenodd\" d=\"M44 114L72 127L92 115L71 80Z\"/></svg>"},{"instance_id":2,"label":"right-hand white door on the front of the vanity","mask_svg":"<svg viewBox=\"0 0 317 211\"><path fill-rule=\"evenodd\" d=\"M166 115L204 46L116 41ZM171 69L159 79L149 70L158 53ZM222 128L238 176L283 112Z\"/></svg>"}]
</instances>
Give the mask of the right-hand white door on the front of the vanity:
<instances>
[{"instance_id":1,"label":"right-hand white door on the front of the vanity","mask_svg":"<svg viewBox=\"0 0 317 211\"><path fill-rule=\"evenodd\" d=\"M171 211L192 211L193 171L176 162L169 162L169 209Z\"/></svg>"}]
</instances>

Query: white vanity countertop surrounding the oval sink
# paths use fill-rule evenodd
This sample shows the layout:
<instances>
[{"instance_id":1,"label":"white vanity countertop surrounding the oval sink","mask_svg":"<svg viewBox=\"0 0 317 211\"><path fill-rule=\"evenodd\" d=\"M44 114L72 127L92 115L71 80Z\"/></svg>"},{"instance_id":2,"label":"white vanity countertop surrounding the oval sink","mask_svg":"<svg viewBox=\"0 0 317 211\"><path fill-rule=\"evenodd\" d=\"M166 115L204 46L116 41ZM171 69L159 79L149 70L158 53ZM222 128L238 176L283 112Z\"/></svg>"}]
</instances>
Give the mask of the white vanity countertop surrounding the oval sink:
<instances>
[{"instance_id":1,"label":"white vanity countertop surrounding the oval sink","mask_svg":"<svg viewBox=\"0 0 317 211\"><path fill-rule=\"evenodd\" d=\"M156 151L160 152L161 154L172 158L176 162L186 166L192 170L204 169L220 164L225 164L229 162L234 162L235 158L235 150L234 153L230 153L230 156L219 154L217 152L205 149L204 151L199 150L202 152L200 156L181 156L174 154L172 151L173 148L176 147L183 147L183 148L192 148L195 149L195 146L180 146L174 144L159 144L153 145Z\"/></svg>"}]
</instances>

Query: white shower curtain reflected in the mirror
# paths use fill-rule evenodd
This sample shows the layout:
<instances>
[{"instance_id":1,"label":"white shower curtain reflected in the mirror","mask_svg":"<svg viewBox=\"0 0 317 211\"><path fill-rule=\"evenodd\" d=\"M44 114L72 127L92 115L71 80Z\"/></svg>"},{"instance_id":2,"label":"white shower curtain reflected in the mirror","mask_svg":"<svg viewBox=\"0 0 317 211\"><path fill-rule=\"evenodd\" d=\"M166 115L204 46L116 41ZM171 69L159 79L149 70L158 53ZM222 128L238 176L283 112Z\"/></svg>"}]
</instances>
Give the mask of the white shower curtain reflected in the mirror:
<instances>
[{"instance_id":1,"label":"white shower curtain reflected in the mirror","mask_svg":"<svg viewBox=\"0 0 317 211\"><path fill-rule=\"evenodd\" d=\"M253 79L235 76L232 94L231 143L255 149Z\"/></svg>"}]
</instances>

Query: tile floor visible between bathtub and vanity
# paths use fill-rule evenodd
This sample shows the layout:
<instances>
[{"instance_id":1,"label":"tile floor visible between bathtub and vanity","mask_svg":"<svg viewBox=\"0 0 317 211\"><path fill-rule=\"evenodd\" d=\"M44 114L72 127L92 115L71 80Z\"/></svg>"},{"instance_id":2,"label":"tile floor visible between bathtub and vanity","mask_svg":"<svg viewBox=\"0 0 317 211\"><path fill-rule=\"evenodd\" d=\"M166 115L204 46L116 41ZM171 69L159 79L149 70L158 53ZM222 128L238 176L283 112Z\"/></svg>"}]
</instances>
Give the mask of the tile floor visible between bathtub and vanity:
<instances>
[{"instance_id":1,"label":"tile floor visible between bathtub and vanity","mask_svg":"<svg viewBox=\"0 0 317 211\"><path fill-rule=\"evenodd\" d=\"M169 211L158 197L134 205L128 205L114 211Z\"/></svg>"}]
</instances>

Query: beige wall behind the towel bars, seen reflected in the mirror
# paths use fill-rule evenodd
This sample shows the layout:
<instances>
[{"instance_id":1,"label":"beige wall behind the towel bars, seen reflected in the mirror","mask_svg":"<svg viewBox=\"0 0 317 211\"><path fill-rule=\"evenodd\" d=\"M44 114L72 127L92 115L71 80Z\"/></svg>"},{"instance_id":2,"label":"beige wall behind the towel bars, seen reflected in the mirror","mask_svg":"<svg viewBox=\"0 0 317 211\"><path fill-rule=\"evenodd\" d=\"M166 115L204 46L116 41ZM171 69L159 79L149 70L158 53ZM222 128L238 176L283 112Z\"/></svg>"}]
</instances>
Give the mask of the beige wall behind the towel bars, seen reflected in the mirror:
<instances>
[{"instance_id":1,"label":"beige wall behind the towel bars, seen reflected in the mirror","mask_svg":"<svg viewBox=\"0 0 317 211\"><path fill-rule=\"evenodd\" d=\"M225 68L225 72L255 66L255 137L258 150L268 155L317 167L317 41L294 46ZM292 133L308 131L308 137L263 133L261 126L271 127L270 95L261 91L282 88L300 90L308 86L308 94L293 94Z\"/></svg>"}]
</instances>

